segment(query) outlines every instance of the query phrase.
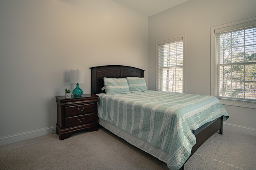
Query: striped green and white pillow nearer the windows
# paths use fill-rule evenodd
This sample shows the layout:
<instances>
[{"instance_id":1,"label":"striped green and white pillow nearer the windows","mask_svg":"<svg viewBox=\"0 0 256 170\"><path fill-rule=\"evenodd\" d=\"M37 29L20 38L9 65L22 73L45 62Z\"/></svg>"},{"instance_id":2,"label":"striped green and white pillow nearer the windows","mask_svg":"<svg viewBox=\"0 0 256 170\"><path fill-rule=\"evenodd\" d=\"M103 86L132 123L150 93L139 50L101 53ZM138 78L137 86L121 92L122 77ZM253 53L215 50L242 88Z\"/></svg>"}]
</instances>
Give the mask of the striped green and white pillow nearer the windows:
<instances>
[{"instance_id":1,"label":"striped green and white pillow nearer the windows","mask_svg":"<svg viewBox=\"0 0 256 170\"><path fill-rule=\"evenodd\" d=\"M130 92L147 91L147 85L143 77L126 77Z\"/></svg>"}]
</instances>

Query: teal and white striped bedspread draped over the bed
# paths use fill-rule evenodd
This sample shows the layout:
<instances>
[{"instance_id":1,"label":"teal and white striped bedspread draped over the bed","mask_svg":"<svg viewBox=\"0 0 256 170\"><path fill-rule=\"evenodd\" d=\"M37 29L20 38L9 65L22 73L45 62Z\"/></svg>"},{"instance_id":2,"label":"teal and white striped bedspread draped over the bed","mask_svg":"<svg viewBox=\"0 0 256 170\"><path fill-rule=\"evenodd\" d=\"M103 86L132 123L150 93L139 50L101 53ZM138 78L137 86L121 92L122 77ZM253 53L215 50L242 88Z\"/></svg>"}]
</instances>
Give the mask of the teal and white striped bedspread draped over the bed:
<instances>
[{"instance_id":1,"label":"teal and white striped bedspread draped over the bed","mask_svg":"<svg viewBox=\"0 0 256 170\"><path fill-rule=\"evenodd\" d=\"M168 154L178 170L196 143L192 130L228 113L213 96L162 91L98 94L98 117Z\"/></svg>"}]
</instances>

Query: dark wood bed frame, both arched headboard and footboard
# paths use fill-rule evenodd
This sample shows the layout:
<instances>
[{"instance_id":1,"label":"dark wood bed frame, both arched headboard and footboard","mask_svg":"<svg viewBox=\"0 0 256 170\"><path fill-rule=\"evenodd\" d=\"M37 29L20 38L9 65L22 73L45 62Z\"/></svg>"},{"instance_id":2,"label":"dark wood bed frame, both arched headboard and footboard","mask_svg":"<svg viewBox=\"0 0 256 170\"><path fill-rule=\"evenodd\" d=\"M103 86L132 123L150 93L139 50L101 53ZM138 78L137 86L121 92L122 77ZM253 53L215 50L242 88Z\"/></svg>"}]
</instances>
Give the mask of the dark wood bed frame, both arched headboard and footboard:
<instances>
[{"instance_id":1,"label":"dark wood bed frame, both arched headboard and footboard","mask_svg":"<svg viewBox=\"0 0 256 170\"><path fill-rule=\"evenodd\" d=\"M91 93L105 93L101 90L104 87L104 77L122 78L122 77L144 77L144 70L131 66L107 65L91 67ZM214 121L202 125L193 131L196 136L196 144L192 147L190 157L196 150L217 131L222 134L223 117L219 117ZM189 158L188 158L189 159ZM188 160L187 160L188 161ZM180 170L184 170L184 164Z\"/></svg>"}]
</instances>

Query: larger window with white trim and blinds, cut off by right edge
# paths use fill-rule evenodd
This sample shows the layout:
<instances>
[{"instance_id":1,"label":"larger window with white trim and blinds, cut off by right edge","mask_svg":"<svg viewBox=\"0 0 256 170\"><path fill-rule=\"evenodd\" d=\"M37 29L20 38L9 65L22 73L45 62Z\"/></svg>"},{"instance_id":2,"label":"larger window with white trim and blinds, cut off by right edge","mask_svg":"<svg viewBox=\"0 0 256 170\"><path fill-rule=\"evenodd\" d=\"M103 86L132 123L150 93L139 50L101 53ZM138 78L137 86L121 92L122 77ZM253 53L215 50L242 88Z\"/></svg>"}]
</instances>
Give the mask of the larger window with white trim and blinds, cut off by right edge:
<instances>
[{"instance_id":1,"label":"larger window with white trim and blinds, cut off by right edge","mask_svg":"<svg viewBox=\"0 0 256 170\"><path fill-rule=\"evenodd\" d=\"M212 94L223 100L256 103L256 21L222 26L211 28Z\"/></svg>"}]
</instances>

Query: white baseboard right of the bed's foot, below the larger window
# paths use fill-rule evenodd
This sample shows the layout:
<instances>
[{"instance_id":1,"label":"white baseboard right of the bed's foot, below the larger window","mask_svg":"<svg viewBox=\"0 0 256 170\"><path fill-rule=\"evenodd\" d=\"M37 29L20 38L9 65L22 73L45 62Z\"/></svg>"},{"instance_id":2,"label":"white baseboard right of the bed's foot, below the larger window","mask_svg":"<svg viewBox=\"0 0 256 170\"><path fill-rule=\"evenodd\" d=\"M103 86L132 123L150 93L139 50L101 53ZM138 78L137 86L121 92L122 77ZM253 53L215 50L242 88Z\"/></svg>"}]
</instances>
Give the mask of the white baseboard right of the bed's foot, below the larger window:
<instances>
[{"instance_id":1,"label":"white baseboard right of the bed's foot, below the larger window","mask_svg":"<svg viewBox=\"0 0 256 170\"><path fill-rule=\"evenodd\" d=\"M244 133L247 135L256 136L256 129L253 129L250 127L234 125L231 123L223 122L223 133L224 133L225 129L230 130L230 131L236 131L238 133Z\"/></svg>"}]
</instances>

